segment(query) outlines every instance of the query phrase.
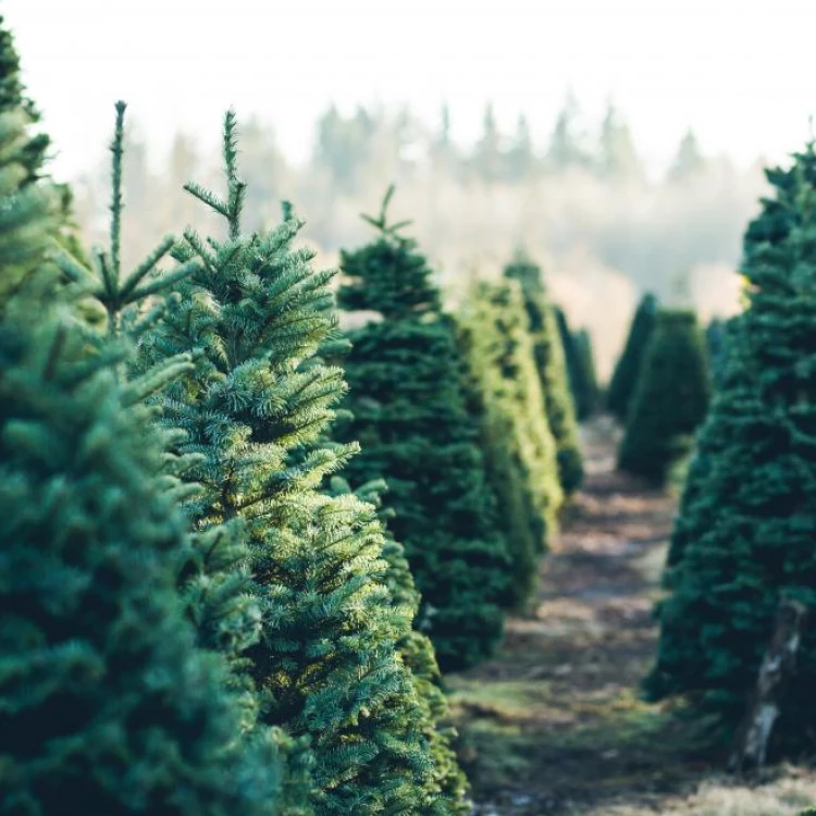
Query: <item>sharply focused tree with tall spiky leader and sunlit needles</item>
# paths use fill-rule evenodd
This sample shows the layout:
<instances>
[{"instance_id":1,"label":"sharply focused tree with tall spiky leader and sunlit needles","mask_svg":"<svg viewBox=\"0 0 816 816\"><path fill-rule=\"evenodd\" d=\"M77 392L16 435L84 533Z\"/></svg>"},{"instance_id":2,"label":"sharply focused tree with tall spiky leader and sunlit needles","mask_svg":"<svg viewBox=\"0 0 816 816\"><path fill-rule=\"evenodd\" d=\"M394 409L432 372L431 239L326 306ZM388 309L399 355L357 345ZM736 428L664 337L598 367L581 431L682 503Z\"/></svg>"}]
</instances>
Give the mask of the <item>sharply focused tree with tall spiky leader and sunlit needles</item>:
<instances>
[{"instance_id":1,"label":"sharply focused tree with tall spiky leader and sunlit needles","mask_svg":"<svg viewBox=\"0 0 816 816\"><path fill-rule=\"evenodd\" d=\"M164 421L202 461L190 511L199 530L238 518L249 536L261 642L252 675L265 721L308 735L318 814L444 814L422 701L397 652L410 617L384 583L376 510L320 491L357 450L321 444L345 388L316 356L331 339L332 272L294 249L302 222L242 232L235 119L226 116L227 196L186 189L220 214L225 239L186 233L177 256L200 271L157 327L148 356L194 354L195 372L170 391Z\"/></svg>"}]
</instances>

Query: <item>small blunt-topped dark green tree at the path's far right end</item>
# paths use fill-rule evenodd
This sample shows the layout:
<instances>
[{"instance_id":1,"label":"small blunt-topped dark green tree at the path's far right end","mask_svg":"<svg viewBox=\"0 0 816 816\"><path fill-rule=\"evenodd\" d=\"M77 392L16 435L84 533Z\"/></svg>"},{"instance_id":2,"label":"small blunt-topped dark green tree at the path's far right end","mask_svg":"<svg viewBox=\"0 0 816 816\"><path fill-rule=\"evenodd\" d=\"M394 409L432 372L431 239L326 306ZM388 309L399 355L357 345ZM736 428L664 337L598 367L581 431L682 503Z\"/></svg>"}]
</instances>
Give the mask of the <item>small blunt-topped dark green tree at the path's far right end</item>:
<instances>
[{"instance_id":1,"label":"small blunt-topped dark green tree at the path's far right end","mask_svg":"<svg viewBox=\"0 0 816 816\"><path fill-rule=\"evenodd\" d=\"M710 391L708 359L696 316L662 310L645 351L618 466L664 484L691 449Z\"/></svg>"}]
</instances>

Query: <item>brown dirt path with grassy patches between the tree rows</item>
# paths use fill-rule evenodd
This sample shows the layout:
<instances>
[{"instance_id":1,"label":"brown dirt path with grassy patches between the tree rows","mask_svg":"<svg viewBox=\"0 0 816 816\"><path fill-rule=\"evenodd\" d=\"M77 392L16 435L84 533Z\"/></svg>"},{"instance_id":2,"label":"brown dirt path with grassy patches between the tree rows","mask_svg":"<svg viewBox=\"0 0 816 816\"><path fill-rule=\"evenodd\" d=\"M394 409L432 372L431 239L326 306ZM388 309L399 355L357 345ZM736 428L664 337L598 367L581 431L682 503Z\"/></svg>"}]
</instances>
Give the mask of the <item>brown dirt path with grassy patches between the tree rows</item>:
<instances>
[{"instance_id":1,"label":"brown dirt path with grassy patches between the tree rows","mask_svg":"<svg viewBox=\"0 0 816 816\"><path fill-rule=\"evenodd\" d=\"M609 420L583 437L585 484L542 564L537 608L508 621L494 660L449 678L481 814L647 807L703 768L688 727L638 696L675 503L615 472Z\"/></svg>"}]
</instances>

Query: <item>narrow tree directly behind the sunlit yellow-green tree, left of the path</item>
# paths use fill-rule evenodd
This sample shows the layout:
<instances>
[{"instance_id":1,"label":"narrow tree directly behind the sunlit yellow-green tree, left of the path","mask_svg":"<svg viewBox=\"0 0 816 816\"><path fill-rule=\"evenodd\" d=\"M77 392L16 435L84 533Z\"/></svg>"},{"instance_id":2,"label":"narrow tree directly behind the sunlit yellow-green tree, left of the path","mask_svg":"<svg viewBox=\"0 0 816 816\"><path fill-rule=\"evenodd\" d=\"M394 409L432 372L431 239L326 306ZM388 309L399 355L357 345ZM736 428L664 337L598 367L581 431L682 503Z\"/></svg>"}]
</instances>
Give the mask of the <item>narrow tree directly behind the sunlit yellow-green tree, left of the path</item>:
<instances>
[{"instance_id":1,"label":"narrow tree directly behind the sunlit yellow-green tree, left of the path","mask_svg":"<svg viewBox=\"0 0 816 816\"><path fill-rule=\"evenodd\" d=\"M558 474L564 493L570 496L581 486L583 458L558 318L555 307L549 302L537 264L518 254L505 267L505 277L521 283L539 378L546 400L547 419L558 449Z\"/></svg>"}]
</instances>

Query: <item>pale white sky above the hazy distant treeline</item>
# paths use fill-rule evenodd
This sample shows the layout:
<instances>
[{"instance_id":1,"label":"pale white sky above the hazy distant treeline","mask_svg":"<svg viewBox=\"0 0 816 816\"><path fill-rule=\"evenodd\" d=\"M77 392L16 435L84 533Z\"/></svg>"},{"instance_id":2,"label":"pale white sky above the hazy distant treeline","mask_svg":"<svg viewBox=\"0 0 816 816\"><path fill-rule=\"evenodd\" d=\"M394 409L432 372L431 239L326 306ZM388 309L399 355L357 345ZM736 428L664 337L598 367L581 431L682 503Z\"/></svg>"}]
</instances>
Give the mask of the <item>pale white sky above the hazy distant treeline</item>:
<instances>
[{"instance_id":1,"label":"pale white sky above the hazy distant treeline","mask_svg":"<svg viewBox=\"0 0 816 816\"><path fill-rule=\"evenodd\" d=\"M213 143L224 110L275 126L295 160L331 102L410 104L472 141L487 101L544 146L572 91L609 99L651 166L693 127L713 154L781 160L816 111L816 0L0 0L54 171L97 161L116 99L149 141Z\"/></svg>"}]
</instances>

